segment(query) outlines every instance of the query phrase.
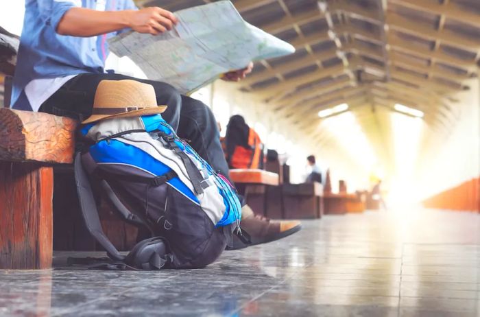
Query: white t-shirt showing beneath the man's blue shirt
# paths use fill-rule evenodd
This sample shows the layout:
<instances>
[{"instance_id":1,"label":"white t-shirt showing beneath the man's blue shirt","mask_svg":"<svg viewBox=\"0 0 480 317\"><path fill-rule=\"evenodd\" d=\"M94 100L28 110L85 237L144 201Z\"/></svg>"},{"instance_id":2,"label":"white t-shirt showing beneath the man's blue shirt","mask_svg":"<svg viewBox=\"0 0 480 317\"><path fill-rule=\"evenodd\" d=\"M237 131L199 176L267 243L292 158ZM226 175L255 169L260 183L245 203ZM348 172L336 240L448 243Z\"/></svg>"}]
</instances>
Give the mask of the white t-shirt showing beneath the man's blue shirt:
<instances>
[{"instance_id":1,"label":"white t-shirt showing beneath the man's blue shirt","mask_svg":"<svg viewBox=\"0 0 480 317\"><path fill-rule=\"evenodd\" d=\"M81 0L56 0L59 2L67 1L73 3L77 7L82 6ZM106 0L97 0L97 6L95 10L105 11ZM97 36L91 38L95 43L97 42ZM40 106L51 97L54 93L60 89L66 82L74 78L76 75L69 75L58 78L38 78L32 80L25 86L25 95L27 95L28 102L32 106L32 110L38 111Z\"/></svg>"}]
</instances>

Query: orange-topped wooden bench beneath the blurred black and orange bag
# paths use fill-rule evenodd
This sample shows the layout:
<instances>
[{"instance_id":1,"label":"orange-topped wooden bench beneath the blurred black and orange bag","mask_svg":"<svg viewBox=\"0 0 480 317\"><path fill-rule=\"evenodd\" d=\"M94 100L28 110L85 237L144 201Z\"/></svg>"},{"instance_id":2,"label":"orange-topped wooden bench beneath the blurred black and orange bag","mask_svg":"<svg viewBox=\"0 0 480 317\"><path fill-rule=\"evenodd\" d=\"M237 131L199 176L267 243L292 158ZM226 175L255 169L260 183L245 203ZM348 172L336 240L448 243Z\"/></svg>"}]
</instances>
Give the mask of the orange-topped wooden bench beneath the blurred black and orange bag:
<instances>
[{"instance_id":1,"label":"orange-topped wooden bench beneath the blurred black and orange bag","mask_svg":"<svg viewBox=\"0 0 480 317\"><path fill-rule=\"evenodd\" d=\"M278 186L278 174L263 169L230 169L230 179L254 213L267 215L268 187Z\"/></svg>"}]
</instances>

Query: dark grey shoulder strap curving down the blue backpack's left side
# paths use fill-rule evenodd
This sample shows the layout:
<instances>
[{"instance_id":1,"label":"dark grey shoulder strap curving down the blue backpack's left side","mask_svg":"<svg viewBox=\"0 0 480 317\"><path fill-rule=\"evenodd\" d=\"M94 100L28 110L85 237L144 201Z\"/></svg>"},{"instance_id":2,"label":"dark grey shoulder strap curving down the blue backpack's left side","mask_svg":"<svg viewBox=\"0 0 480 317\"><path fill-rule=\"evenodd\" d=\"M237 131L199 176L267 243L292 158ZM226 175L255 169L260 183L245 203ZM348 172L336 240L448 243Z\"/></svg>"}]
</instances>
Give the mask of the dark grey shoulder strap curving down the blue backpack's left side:
<instances>
[{"instance_id":1,"label":"dark grey shoulder strap curving down the blue backpack's left side","mask_svg":"<svg viewBox=\"0 0 480 317\"><path fill-rule=\"evenodd\" d=\"M112 242L110 242L108 237L106 237L104 230L101 228L97 204L95 204L95 198L93 198L90 181L88 180L88 176L82 166L80 152L75 154L73 168L75 172L75 185L77 187L78 200L80 200L80 210L82 211L86 228L88 228L88 231L93 237L95 237L97 242L105 248L111 259L118 261L123 260L125 257L119 253L117 248L115 248Z\"/></svg>"}]
</instances>

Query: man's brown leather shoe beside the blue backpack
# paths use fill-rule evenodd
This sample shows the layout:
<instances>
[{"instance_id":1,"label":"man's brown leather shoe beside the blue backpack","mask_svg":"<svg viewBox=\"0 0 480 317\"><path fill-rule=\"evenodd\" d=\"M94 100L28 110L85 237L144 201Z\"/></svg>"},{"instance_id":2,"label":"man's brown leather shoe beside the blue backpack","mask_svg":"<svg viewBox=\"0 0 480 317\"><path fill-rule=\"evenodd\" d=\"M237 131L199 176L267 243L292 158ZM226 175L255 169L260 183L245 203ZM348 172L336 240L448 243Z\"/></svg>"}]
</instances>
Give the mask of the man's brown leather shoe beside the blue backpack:
<instances>
[{"instance_id":1,"label":"man's brown leather shoe beside the blue backpack","mask_svg":"<svg viewBox=\"0 0 480 317\"><path fill-rule=\"evenodd\" d=\"M272 242L287 237L300 231L302 224L298 220L269 220L262 215L255 215L252 209L245 205L241 209L240 226L245 237L250 236L251 244L246 244L237 235L233 236L233 246L227 246L227 250L237 250Z\"/></svg>"}]
</instances>

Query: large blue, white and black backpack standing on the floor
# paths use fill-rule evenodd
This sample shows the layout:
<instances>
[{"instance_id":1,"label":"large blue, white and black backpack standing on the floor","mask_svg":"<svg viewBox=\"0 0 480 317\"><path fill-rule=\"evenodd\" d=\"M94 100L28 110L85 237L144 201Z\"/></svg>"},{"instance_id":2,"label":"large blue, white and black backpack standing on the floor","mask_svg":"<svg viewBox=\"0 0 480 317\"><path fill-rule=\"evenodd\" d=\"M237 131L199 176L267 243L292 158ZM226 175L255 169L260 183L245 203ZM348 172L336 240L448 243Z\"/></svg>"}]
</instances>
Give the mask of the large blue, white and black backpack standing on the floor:
<instances>
[{"instance_id":1,"label":"large blue, white and black backpack standing on the floor","mask_svg":"<svg viewBox=\"0 0 480 317\"><path fill-rule=\"evenodd\" d=\"M215 172L161 115L106 119L80 131L75 158L80 206L88 230L110 259L136 269L202 268L240 233L235 187ZM123 218L153 238L127 257L101 230L91 185L101 187Z\"/></svg>"}]
</instances>

